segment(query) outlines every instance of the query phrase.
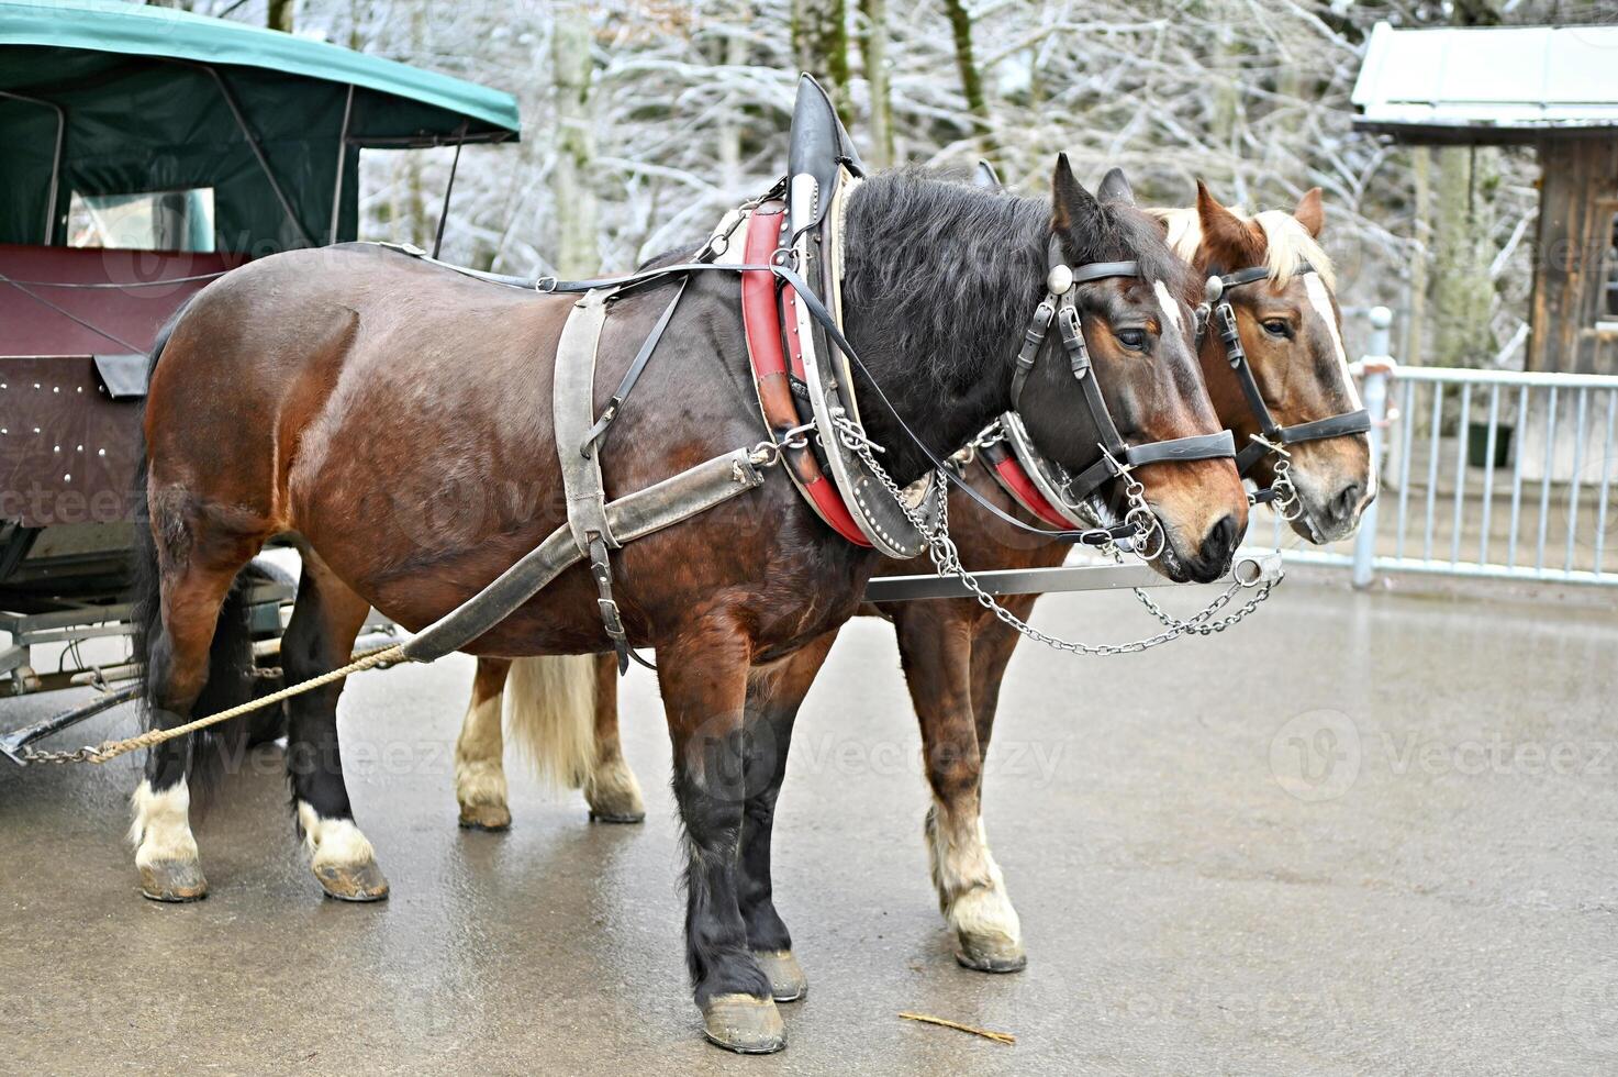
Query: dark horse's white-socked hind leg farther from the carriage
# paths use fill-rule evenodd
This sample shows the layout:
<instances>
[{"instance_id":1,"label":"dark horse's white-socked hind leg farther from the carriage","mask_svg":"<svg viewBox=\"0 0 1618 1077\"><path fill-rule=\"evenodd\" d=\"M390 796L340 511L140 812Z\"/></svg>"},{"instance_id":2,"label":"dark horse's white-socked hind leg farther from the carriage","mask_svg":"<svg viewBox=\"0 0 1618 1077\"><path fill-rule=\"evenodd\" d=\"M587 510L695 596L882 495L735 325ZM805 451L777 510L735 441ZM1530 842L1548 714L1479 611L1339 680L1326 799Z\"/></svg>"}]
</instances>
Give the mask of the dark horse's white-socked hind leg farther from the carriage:
<instances>
[{"instance_id":1,"label":"dark horse's white-socked hind leg farther from the carriage","mask_svg":"<svg viewBox=\"0 0 1618 1077\"><path fill-rule=\"evenodd\" d=\"M319 677L346 666L354 636L371 602L338 580L325 564L303 551L298 602L282 636L286 683ZM343 784L337 743L337 700L343 682L304 692L286 701L286 777L293 787L298 829L309 849L309 868L320 888L341 900L382 900L388 881L377 866L371 842L354 826Z\"/></svg>"}]
</instances>

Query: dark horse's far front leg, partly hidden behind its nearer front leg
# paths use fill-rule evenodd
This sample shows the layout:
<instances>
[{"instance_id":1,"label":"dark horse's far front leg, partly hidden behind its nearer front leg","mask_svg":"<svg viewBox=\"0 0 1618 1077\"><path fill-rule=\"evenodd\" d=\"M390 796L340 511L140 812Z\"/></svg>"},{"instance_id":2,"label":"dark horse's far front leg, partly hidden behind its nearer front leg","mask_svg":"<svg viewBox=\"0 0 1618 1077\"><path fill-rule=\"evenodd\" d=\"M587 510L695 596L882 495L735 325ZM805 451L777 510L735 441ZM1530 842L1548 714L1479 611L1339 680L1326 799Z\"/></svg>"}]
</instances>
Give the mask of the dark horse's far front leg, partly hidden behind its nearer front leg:
<instances>
[{"instance_id":1,"label":"dark horse's far front leg, partly hidden behind its nearer front leg","mask_svg":"<svg viewBox=\"0 0 1618 1077\"><path fill-rule=\"evenodd\" d=\"M809 993L809 980L793 956L793 936L775 910L770 883L770 831L775 802L786 777L786 755L798 708L825 662L835 632L828 632L786 659L778 669L756 674L748 688L748 805L741 821L741 920L748 946L770 978L777 1003L794 1003Z\"/></svg>"}]
</instances>

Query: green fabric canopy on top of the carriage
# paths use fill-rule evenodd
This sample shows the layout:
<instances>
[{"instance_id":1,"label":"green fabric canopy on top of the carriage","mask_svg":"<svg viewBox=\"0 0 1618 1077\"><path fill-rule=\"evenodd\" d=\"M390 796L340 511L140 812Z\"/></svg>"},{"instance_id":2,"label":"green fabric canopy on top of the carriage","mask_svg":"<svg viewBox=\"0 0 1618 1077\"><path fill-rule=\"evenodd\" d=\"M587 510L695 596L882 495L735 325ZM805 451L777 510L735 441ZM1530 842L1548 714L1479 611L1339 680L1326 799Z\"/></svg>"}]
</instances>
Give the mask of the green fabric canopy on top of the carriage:
<instances>
[{"instance_id":1,"label":"green fabric canopy on top of the carriage","mask_svg":"<svg viewBox=\"0 0 1618 1077\"><path fill-rule=\"evenodd\" d=\"M510 94L320 40L175 8L0 0L0 243L63 243L73 194L199 189L220 251L353 240L359 147L516 136Z\"/></svg>"}]
</instances>

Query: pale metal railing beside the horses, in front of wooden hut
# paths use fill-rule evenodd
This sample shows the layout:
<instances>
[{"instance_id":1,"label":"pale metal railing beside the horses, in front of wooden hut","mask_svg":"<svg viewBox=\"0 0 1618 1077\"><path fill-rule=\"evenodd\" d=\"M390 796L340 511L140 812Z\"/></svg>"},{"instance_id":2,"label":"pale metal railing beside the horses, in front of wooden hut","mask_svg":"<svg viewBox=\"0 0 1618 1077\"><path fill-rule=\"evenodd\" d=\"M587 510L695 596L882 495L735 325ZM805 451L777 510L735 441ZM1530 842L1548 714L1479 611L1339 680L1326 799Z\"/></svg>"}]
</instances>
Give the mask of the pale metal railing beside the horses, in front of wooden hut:
<instances>
[{"instance_id":1,"label":"pale metal railing beside the horses, in front of wooden hut","mask_svg":"<svg viewBox=\"0 0 1618 1077\"><path fill-rule=\"evenodd\" d=\"M1618 585L1618 377L1398 368L1387 308L1356 364L1380 492L1351 543L1275 544L1286 560L1377 572ZM1256 528L1262 534L1262 528Z\"/></svg>"}]
</instances>

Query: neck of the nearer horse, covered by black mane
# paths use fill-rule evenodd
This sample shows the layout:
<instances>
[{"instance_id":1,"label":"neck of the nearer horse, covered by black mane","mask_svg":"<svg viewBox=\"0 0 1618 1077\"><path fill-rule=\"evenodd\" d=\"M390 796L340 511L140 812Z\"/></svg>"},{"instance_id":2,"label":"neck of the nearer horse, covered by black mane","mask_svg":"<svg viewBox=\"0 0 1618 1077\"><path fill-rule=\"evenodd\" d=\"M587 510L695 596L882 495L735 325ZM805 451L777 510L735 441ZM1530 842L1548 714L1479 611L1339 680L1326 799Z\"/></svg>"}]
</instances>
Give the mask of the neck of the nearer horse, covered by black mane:
<instances>
[{"instance_id":1,"label":"neck of the nearer horse, covered by black mane","mask_svg":"<svg viewBox=\"0 0 1618 1077\"><path fill-rule=\"evenodd\" d=\"M974 227L951 235L950 222L927 220L919 199L909 219L901 209L861 220L862 191L849 212L843 277L848 338L870 374L856 369L854 389L867 434L887 449L883 465L909 483L930 463L870 381L938 458L1010 408L1013 356L1044 293L1050 211L984 196L1002 212L979 206ZM982 228L985 215L1000 227Z\"/></svg>"}]
</instances>

